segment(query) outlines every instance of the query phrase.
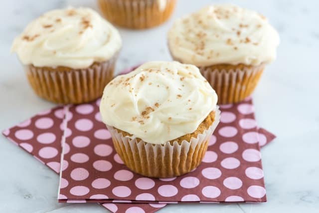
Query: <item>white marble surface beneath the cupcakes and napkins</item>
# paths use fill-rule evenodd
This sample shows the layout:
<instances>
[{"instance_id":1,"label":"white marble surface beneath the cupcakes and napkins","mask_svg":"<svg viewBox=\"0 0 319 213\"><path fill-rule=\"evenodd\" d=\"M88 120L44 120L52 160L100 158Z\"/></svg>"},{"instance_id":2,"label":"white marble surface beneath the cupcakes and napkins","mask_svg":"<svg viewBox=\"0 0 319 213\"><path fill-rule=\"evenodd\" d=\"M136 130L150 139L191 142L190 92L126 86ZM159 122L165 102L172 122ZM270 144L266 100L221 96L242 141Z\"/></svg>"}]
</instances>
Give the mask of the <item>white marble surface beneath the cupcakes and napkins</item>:
<instances>
[{"instance_id":1,"label":"white marble surface beneath the cupcakes and napkins","mask_svg":"<svg viewBox=\"0 0 319 213\"><path fill-rule=\"evenodd\" d=\"M169 60L165 35L172 20L216 0L179 0L172 18L143 31L120 29L117 70L148 60ZM233 0L266 15L278 29L278 59L267 67L253 97L258 123L278 138L263 148L268 202L169 205L159 213L318 212L319 210L319 1ZM94 0L9 0L0 7L0 129L54 106L34 95L15 55L14 36L44 11L67 5L97 8ZM0 137L1 213L104 213L96 204L58 204L58 178Z\"/></svg>"}]
</instances>

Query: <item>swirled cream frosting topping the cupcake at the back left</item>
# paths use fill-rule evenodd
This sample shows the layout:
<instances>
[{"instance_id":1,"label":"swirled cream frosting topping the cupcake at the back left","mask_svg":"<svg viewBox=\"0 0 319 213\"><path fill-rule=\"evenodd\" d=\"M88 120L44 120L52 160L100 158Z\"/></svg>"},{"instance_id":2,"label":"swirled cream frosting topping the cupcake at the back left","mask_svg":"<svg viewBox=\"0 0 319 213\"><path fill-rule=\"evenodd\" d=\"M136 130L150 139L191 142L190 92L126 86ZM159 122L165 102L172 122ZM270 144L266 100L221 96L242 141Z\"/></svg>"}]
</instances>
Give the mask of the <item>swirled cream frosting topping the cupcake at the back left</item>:
<instances>
[{"instance_id":1,"label":"swirled cream frosting topping the cupcake at the back left","mask_svg":"<svg viewBox=\"0 0 319 213\"><path fill-rule=\"evenodd\" d=\"M119 51L118 30L90 8L48 11L29 23L11 51L23 64L87 68Z\"/></svg>"}]
</instances>

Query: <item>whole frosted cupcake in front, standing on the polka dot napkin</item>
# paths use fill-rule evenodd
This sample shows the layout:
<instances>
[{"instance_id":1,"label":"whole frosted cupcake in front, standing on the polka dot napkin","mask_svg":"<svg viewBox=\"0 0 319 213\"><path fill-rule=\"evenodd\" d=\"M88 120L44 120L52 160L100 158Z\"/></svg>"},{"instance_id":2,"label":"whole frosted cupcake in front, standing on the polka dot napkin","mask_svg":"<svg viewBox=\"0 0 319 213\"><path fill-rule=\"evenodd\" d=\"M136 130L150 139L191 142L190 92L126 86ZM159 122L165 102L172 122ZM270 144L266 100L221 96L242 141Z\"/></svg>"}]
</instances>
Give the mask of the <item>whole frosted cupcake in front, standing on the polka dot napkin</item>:
<instances>
[{"instance_id":1,"label":"whole frosted cupcake in front, standing on the polka dot napkin","mask_svg":"<svg viewBox=\"0 0 319 213\"><path fill-rule=\"evenodd\" d=\"M179 62L148 62L113 79L100 112L114 147L132 171L155 178L196 168L220 111L199 69Z\"/></svg>"}]
</instances>

